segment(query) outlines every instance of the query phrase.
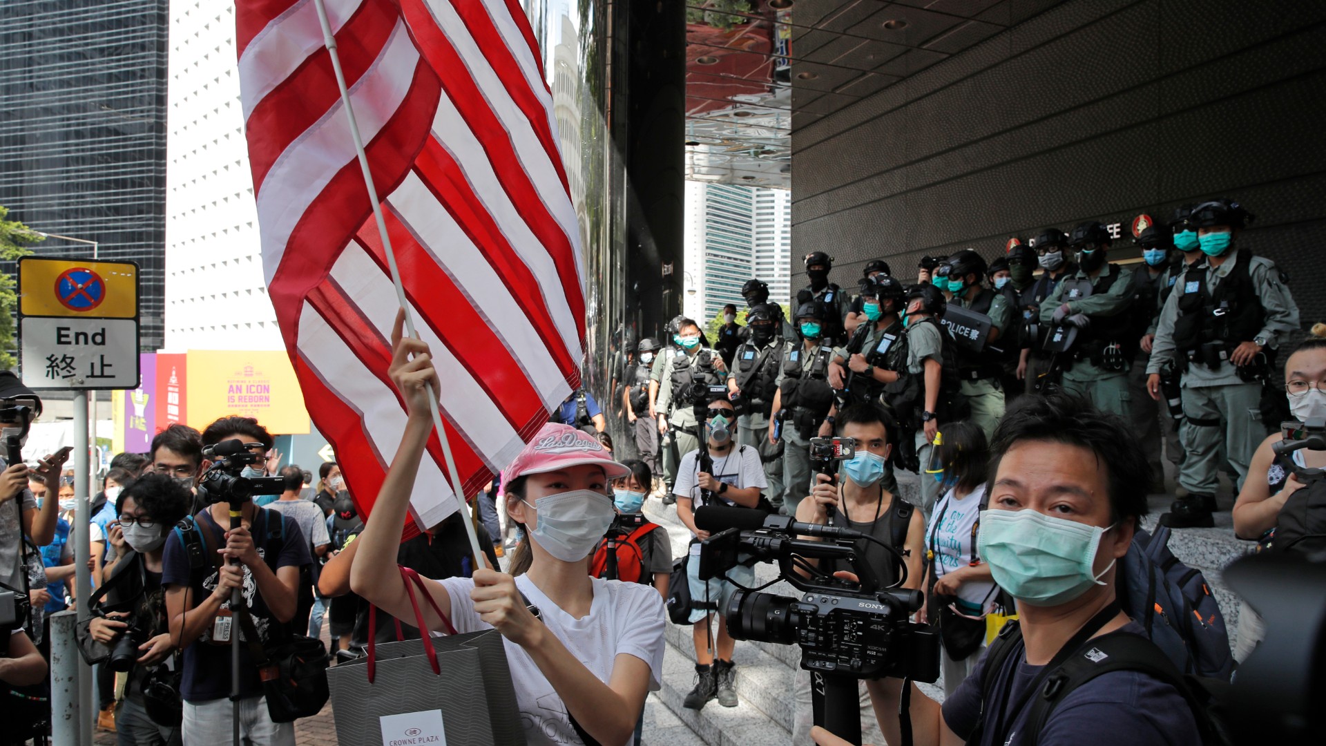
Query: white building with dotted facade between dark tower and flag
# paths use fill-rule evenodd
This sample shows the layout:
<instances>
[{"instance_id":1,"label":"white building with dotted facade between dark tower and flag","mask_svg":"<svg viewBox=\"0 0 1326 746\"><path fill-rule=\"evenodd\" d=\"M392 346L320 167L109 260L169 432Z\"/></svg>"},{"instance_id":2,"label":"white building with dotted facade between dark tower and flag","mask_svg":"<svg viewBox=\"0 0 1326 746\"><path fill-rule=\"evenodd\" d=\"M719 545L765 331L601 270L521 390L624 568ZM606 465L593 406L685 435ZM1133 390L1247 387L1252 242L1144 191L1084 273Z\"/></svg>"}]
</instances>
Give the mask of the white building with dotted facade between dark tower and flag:
<instances>
[{"instance_id":1,"label":"white building with dotted facade between dark tower and flag","mask_svg":"<svg viewBox=\"0 0 1326 746\"><path fill-rule=\"evenodd\" d=\"M281 349L235 65L235 7L171 0L166 349Z\"/></svg>"}]
</instances>

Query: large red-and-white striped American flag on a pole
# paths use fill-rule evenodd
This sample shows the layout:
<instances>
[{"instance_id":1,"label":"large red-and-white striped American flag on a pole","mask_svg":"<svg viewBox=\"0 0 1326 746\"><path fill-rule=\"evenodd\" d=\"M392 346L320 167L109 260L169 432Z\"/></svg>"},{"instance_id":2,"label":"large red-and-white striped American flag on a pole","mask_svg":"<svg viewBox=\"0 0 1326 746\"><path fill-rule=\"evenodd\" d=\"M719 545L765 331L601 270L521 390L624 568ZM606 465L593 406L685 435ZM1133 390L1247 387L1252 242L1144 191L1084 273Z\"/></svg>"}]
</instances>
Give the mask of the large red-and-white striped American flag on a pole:
<instances>
[{"instance_id":1,"label":"large red-and-white striped American flag on a pole","mask_svg":"<svg viewBox=\"0 0 1326 746\"><path fill-rule=\"evenodd\" d=\"M579 234L538 44L517 0L325 5L468 498L579 384ZM313 0L237 0L236 46L268 293L366 515L406 423L398 301ZM459 507L444 473L434 433L420 526Z\"/></svg>"}]
</instances>

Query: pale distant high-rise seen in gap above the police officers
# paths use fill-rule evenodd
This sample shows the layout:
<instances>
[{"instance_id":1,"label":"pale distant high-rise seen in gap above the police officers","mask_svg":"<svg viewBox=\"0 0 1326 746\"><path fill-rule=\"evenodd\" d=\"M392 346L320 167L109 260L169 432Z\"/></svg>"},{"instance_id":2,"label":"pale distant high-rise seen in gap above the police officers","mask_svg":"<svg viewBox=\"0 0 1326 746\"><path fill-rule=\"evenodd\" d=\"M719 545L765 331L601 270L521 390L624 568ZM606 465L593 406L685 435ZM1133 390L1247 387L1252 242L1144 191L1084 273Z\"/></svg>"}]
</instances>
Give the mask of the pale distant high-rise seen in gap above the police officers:
<instances>
[{"instance_id":1,"label":"pale distant high-rise seen in gap above the police officers","mask_svg":"<svg viewBox=\"0 0 1326 746\"><path fill-rule=\"evenodd\" d=\"M743 308L741 285L751 277L769 284L769 300L786 304L792 272L790 192L687 182L686 272L683 309L701 325L724 304Z\"/></svg>"}]
</instances>

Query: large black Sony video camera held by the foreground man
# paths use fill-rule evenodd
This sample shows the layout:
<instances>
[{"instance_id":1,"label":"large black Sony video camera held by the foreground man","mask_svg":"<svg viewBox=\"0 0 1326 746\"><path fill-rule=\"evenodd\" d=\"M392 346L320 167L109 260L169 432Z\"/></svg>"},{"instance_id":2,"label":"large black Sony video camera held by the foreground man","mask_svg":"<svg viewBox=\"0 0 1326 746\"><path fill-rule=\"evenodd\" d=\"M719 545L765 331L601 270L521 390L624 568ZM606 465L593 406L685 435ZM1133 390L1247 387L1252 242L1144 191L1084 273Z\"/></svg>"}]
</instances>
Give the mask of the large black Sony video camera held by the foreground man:
<instances>
[{"instance_id":1,"label":"large black Sony video camera held by the foreground man","mask_svg":"<svg viewBox=\"0 0 1326 746\"><path fill-rule=\"evenodd\" d=\"M701 543L697 573L701 580L724 576L736 567L739 555L749 555L754 561L777 563L780 577L801 591L801 597L737 591L728 608L721 609L733 638L794 642L801 646L801 668L837 677L888 676L924 682L939 678L939 636L927 625L910 621L922 607L922 593L878 588L858 548L858 542L871 538L743 508L705 506L696 511L695 519L700 528L716 531ZM760 522L762 526L754 530L737 527L753 528ZM732 527L719 531L724 523ZM826 540L798 539L798 534L818 534ZM880 546L898 554L887 544ZM806 559L843 560L859 581L833 577ZM796 572L797 568L809 577Z\"/></svg>"}]
</instances>

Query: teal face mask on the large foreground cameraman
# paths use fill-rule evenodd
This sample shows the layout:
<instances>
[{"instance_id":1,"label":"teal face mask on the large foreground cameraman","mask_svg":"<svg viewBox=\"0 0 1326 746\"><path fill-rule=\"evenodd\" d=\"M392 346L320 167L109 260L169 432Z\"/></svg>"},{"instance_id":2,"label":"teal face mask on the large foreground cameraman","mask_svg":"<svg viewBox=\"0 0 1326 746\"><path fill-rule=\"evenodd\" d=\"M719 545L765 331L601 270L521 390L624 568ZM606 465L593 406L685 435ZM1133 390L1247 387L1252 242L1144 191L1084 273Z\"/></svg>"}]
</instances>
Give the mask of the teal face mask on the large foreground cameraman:
<instances>
[{"instance_id":1,"label":"teal face mask on the large foreground cameraman","mask_svg":"<svg viewBox=\"0 0 1326 746\"><path fill-rule=\"evenodd\" d=\"M1057 607L1105 585L1094 572L1106 531L1034 510L987 510L981 514L977 550L1000 588L1033 607Z\"/></svg>"}]
</instances>

